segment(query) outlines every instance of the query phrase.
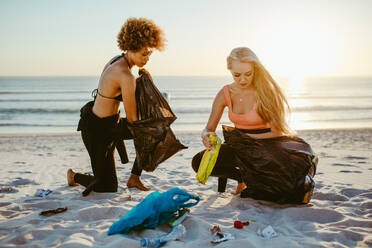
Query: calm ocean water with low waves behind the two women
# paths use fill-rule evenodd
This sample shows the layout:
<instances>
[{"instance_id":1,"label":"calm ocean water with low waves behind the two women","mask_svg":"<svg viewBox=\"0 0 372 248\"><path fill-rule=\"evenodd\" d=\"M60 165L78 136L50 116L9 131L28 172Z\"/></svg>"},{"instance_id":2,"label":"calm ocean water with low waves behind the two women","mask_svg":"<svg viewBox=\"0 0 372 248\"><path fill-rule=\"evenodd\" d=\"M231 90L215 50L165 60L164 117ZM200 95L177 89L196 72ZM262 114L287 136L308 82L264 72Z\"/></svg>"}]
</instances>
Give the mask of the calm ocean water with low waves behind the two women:
<instances>
[{"instance_id":1,"label":"calm ocean water with low waves behind the two women","mask_svg":"<svg viewBox=\"0 0 372 248\"><path fill-rule=\"evenodd\" d=\"M154 77L169 95L175 131L200 131L230 77ZM98 77L0 77L0 134L75 132ZM295 130L372 127L372 78L279 78ZM123 110L123 108L122 108ZM122 112L124 113L124 112ZM227 112L221 124L231 124ZM220 126L218 127L220 129Z\"/></svg>"}]
</instances>

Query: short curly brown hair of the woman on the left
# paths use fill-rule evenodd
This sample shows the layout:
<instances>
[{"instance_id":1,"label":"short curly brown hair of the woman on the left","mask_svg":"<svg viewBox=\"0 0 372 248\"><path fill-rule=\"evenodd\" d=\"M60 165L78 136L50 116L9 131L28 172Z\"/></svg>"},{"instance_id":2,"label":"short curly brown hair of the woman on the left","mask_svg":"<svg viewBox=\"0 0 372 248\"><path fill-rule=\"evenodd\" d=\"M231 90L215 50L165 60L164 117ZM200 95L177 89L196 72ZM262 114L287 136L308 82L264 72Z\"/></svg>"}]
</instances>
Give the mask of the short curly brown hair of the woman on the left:
<instances>
[{"instance_id":1,"label":"short curly brown hair of the woman on the left","mask_svg":"<svg viewBox=\"0 0 372 248\"><path fill-rule=\"evenodd\" d=\"M122 51L139 51L144 47L161 51L166 41L163 30L152 20L134 17L124 23L117 38Z\"/></svg>"}]
</instances>

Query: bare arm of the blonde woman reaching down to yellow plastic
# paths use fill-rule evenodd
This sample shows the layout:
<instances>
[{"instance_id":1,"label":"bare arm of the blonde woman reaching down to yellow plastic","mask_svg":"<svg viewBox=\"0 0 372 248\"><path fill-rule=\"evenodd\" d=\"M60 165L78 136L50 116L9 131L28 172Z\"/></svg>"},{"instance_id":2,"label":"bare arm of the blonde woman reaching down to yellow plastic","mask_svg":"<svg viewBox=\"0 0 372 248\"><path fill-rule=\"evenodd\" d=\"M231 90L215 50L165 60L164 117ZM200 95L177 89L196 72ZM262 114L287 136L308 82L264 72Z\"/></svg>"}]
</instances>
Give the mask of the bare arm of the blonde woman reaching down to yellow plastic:
<instances>
[{"instance_id":1,"label":"bare arm of the blonde woman reaching down to yellow plastic","mask_svg":"<svg viewBox=\"0 0 372 248\"><path fill-rule=\"evenodd\" d=\"M203 133L202 133L202 140L203 144L207 149L210 149L210 140L207 137L209 132L214 132L216 131L217 125L219 121L221 120L221 116L223 114L223 110L226 107L226 102L225 102L225 96L223 93L223 89L221 89L218 93L217 96L215 97L212 105L212 111L209 116L209 120L207 123L207 126L205 127Z\"/></svg>"}]
</instances>

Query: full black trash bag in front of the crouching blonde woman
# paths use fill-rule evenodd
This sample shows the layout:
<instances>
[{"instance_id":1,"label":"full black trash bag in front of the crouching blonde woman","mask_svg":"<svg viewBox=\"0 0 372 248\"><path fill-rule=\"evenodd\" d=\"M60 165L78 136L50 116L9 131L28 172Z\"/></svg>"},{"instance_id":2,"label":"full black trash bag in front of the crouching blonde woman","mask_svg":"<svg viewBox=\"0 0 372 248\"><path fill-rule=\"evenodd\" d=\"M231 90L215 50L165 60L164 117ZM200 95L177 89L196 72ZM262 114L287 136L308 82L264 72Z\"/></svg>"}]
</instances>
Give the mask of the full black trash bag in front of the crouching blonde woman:
<instances>
[{"instance_id":1,"label":"full black trash bag in front of the crouching blonde woman","mask_svg":"<svg viewBox=\"0 0 372 248\"><path fill-rule=\"evenodd\" d=\"M306 178L314 185L318 162L309 144L294 136L253 139L227 126L223 126L223 134L226 144L234 149L247 196L277 203L306 203L304 196L310 190Z\"/></svg>"}]
</instances>

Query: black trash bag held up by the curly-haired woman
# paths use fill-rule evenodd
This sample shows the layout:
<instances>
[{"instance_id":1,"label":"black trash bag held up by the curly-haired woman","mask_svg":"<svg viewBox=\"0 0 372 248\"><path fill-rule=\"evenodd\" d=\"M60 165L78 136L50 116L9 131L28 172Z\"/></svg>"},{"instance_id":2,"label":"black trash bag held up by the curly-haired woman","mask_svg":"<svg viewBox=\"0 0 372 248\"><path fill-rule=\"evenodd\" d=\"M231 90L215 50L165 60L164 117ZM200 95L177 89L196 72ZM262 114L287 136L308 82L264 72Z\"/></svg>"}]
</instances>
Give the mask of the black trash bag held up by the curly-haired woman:
<instances>
[{"instance_id":1,"label":"black trash bag held up by the curly-haired woman","mask_svg":"<svg viewBox=\"0 0 372 248\"><path fill-rule=\"evenodd\" d=\"M139 75L136 82L138 121L128 122L128 128L134 137L138 166L150 172L187 147L173 134L170 125L177 117L154 85L150 73L141 69Z\"/></svg>"}]
</instances>

